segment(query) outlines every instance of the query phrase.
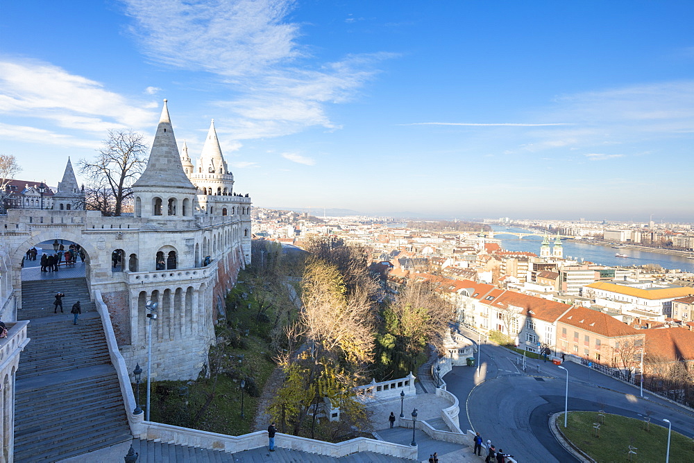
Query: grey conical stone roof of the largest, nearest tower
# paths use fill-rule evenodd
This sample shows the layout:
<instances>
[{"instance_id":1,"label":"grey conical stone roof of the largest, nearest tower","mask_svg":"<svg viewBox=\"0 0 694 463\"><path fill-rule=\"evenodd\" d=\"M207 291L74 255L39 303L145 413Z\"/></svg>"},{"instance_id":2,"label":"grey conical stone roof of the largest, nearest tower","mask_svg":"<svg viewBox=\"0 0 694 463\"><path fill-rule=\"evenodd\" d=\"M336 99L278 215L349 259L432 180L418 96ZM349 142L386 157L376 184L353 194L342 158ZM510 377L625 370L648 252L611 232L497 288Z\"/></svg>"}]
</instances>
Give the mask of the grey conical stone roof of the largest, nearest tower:
<instances>
[{"instance_id":1,"label":"grey conical stone roof of the largest, nearest tower","mask_svg":"<svg viewBox=\"0 0 694 463\"><path fill-rule=\"evenodd\" d=\"M173 189L195 190L195 187L188 180L185 172L183 172L166 100L164 100L162 116L159 119L159 126L152 143L147 167L137 182L133 184L133 188L161 188L162 186Z\"/></svg>"}]
</instances>

